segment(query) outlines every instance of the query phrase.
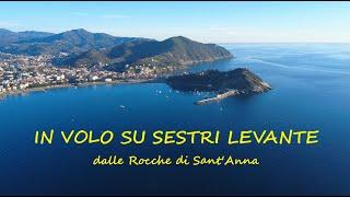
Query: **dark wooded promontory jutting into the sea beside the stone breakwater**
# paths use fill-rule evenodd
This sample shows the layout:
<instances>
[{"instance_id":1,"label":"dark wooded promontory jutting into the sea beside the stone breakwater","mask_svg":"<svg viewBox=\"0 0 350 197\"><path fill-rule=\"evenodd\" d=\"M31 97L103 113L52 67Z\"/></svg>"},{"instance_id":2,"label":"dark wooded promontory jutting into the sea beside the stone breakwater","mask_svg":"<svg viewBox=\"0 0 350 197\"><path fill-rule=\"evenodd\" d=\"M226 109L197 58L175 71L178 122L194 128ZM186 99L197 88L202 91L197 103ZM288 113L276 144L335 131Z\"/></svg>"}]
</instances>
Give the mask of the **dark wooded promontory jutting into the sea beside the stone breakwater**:
<instances>
[{"instance_id":1,"label":"dark wooded promontory jutting into the sea beside the stone breakwater","mask_svg":"<svg viewBox=\"0 0 350 197\"><path fill-rule=\"evenodd\" d=\"M271 90L268 83L246 68L174 76L167 78L166 81L173 89L182 91L223 93L236 90L238 94L252 94Z\"/></svg>"}]
</instances>

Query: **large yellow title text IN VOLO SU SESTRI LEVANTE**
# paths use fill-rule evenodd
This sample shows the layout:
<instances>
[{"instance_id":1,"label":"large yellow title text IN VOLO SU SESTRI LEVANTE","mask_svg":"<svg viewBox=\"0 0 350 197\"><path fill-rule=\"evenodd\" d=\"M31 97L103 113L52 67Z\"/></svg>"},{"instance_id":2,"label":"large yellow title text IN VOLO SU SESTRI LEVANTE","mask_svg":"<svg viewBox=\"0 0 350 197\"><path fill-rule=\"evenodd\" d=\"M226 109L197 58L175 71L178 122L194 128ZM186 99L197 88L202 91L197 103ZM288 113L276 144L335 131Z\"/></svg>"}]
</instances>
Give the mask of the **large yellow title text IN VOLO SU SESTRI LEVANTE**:
<instances>
[{"instance_id":1,"label":"large yellow title text IN VOLO SU SESTRI LEVANTE","mask_svg":"<svg viewBox=\"0 0 350 197\"><path fill-rule=\"evenodd\" d=\"M241 130L241 131L210 131L210 130L104 130L94 132L93 130L69 130L35 131L34 141L36 144L51 144L56 138L61 142L84 144L101 143L110 144L113 142L127 144L141 144L150 141L153 146L159 144L316 144L318 143L319 130Z\"/></svg>"}]
</instances>

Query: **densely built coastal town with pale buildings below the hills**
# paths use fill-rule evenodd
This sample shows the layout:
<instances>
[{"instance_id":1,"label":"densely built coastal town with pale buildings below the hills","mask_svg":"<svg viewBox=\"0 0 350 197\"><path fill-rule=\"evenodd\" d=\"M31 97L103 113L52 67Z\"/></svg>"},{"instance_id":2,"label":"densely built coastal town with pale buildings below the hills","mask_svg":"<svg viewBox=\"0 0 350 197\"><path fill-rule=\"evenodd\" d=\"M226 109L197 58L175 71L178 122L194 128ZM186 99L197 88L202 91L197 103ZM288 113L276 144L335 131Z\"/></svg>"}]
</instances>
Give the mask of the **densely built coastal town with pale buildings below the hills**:
<instances>
[{"instance_id":1,"label":"densely built coastal town with pale buildings below the hills","mask_svg":"<svg viewBox=\"0 0 350 197\"><path fill-rule=\"evenodd\" d=\"M27 56L0 53L0 99L24 93L31 89L46 89L84 83L115 83L156 78L155 67L133 66L124 72L108 71L96 65L86 67L55 67L54 56Z\"/></svg>"}]
</instances>

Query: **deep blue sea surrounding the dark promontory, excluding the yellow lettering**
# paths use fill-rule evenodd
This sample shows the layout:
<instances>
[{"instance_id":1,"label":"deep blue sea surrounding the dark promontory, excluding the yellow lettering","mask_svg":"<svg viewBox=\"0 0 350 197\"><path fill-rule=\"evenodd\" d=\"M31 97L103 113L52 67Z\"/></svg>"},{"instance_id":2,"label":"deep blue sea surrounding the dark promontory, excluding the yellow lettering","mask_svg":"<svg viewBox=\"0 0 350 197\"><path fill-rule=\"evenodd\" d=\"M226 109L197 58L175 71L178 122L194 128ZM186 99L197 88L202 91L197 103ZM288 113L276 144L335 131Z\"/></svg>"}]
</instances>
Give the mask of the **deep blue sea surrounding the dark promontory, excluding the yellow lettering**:
<instances>
[{"instance_id":1,"label":"deep blue sea surrounding the dark promontory, excluding the yellow lettering","mask_svg":"<svg viewBox=\"0 0 350 197\"><path fill-rule=\"evenodd\" d=\"M0 101L0 194L350 195L350 45L228 44L273 90L195 105L163 83L55 89ZM161 93L160 93L161 92ZM125 108L121 108L124 105ZM314 146L34 143L36 130L319 130ZM96 155L259 158L259 166L93 166Z\"/></svg>"}]
</instances>

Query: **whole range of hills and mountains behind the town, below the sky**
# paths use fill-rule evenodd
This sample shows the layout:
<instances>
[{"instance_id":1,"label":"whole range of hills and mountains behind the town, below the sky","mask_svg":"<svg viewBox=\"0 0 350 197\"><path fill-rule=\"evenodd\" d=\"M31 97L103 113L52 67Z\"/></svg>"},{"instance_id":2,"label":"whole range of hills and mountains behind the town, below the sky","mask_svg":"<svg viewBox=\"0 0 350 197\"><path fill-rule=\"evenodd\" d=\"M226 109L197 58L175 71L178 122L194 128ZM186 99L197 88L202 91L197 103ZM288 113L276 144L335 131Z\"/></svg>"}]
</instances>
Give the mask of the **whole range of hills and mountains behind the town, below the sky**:
<instances>
[{"instance_id":1,"label":"whole range of hills and mountains behind the town, below the sky","mask_svg":"<svg viewBox=\"0 0 350 197\"><path fill-rule=\"evenodd\" d=\"M83 28L59 34L0 31L0 51L23 55L52 55L52 63L69 67L104 67L125 70L133 66L178 69L189 65L229 59L233 56L214 44L202 44L184 36L164 40L116 37Z\"/></svg>"}]
</instances>

